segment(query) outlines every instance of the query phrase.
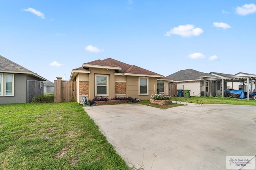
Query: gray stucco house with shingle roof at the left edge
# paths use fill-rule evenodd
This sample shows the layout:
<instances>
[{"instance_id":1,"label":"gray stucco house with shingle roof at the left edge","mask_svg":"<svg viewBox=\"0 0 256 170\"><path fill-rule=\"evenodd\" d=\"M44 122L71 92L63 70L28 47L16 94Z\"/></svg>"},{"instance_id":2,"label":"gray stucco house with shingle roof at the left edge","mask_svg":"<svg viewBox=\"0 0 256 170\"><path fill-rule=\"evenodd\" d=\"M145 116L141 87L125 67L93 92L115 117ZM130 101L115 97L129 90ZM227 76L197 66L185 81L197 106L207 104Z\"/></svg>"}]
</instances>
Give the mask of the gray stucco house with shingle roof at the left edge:
<instances>
[{"instance_id":1,"label":"gray stucco house with shingle roof at the left edge","mask_svg":"<svg viewBox=\"0 0 256 170\"><path fill-rule=\"evenodd\" d=\"M27 80L46 79L0 55L0 104L26 103Z\"/></svg>"}]
</instances>

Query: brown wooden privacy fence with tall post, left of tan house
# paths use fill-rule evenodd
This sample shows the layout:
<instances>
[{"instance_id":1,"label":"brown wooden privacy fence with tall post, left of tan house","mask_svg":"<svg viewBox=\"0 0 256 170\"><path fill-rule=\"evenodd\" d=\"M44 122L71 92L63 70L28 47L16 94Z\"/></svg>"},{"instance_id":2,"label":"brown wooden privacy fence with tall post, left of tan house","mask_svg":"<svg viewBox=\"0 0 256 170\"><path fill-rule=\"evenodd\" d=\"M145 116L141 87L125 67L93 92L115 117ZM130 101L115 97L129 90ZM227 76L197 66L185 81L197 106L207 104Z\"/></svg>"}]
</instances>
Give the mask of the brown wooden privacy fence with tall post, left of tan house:
<instances>
[{"instance_id":1,"label":"brown wooden privacy fence with tall post, left of tan house","mask_svg":"<svg viewBox=\"0 0 256 170\"><path fill-rule=\"evenodd\" d=\"M76 81L63 81L62 77L54 80L54 102L76 101Z\"/></svg>"}]
</instances>

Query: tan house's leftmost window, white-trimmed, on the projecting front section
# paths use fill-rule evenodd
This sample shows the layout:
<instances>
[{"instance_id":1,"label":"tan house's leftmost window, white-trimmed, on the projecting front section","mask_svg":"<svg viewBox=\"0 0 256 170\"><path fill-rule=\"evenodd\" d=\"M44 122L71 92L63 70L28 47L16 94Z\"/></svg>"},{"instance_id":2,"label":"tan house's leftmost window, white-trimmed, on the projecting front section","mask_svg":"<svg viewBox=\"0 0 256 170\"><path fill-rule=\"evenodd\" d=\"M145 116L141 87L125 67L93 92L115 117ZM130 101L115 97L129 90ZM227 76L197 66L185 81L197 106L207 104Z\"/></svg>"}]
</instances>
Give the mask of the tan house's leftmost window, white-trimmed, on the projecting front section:
<instances>
[{"instance_id":1,"label":"tan house's leftmost window, white-trimmed, on the projecting front section","mask_svg":"<svg viewBox=\"0 0 256 170\"><path fill-rule=\"evenodd\" d=\"M108 96L108 75L95 74L95 96Z\"/></svg>"}]
</instances>

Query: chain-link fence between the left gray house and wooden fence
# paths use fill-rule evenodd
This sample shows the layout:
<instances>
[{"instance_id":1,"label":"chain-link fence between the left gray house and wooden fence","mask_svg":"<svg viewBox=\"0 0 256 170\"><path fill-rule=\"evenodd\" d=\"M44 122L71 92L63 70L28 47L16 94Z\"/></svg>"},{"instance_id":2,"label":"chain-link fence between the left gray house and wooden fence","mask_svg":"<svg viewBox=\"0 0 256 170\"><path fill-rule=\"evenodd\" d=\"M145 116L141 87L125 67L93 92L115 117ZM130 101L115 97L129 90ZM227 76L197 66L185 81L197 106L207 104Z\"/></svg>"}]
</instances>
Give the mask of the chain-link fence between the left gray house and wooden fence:
<instances>
[{"instance_id":1,"label":"chain-link fence between the left gray house and wooden fence","mask_svg":"<svg viewBox=\"0 0 256 170\"><path fill-rule=\"evenodd\" d=\"M54 94L54 83L50 81L28 80L27 82L27 102L32 102L34 97L40 95Z\"/></svg>"}]
</instances>

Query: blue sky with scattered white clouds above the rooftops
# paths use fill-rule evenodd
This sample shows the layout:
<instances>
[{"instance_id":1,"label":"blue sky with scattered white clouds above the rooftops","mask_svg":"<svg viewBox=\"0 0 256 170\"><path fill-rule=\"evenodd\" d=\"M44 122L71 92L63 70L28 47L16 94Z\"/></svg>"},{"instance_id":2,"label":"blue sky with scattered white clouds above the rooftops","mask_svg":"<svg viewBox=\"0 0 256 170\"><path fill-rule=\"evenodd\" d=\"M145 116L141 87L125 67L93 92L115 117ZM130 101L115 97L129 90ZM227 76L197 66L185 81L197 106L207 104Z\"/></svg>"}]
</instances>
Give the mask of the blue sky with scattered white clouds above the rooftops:
<instances>
[{"instance_id":1,"label":"blue sky with scattered white clouds above the rooftops","mask_svg":"<svg viewBox=\"0 0 256 170\"><path fill-rule=\"evenodd\" d=\"M0 55L50 81L109 57L256 74L256 0L1 0L0 23Z\"/></svg>"}]
</instances>

